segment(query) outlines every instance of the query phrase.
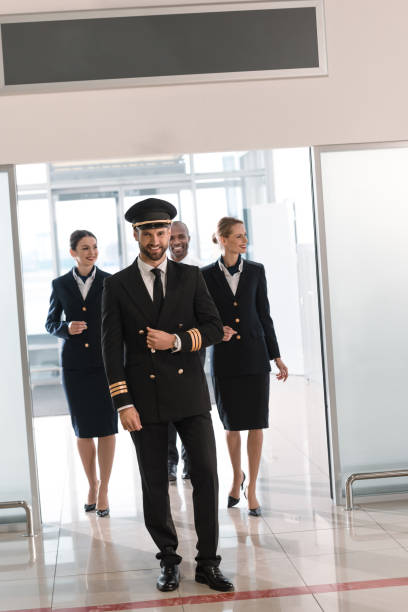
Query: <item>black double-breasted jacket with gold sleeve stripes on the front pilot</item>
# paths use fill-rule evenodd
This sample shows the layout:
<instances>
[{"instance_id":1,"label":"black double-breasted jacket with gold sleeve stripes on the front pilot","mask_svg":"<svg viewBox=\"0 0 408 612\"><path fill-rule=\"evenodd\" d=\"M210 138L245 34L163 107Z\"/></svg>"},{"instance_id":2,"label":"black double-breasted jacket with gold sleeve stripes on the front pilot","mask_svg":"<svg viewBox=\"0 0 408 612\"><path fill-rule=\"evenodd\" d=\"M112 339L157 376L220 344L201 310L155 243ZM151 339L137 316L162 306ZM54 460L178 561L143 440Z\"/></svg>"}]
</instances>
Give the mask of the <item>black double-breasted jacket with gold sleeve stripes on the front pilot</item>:
<instances>
[{"instance_id":1,"label":"black double-breasted jacket with gold sleeve stripes on the front pilot","mask_svg":"<svg viewBox=\"0 0 408 612\"><path fill-rule=\"evenodd\" d=\"M222 339L219 314L199 268L169 260L166 276L157 320L137 260L104 286L102 352L113 405L133 404L142 424L211 409L199 350ZM151 351L147 327L177 334L181 350Z\"/></svg>"}]
</instances>

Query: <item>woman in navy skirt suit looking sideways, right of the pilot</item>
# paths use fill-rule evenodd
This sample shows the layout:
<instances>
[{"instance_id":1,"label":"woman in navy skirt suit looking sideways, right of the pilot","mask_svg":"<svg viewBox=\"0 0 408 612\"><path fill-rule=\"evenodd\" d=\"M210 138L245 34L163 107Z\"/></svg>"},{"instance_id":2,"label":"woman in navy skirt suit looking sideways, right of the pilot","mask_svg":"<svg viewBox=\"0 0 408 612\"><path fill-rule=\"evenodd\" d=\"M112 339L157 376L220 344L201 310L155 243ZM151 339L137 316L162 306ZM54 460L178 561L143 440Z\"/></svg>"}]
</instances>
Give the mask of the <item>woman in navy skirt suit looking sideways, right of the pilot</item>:
<instances>
[{"instance_id":1,"label":"woman in navy skirt suit looking sideways, right of the pilot","mask_svg":"<svg viewBox=\"0 0 408 612\"><path fill-rule=\"evenodd\" d=\"M256 480L263 429L269 426L270 360L279 369L279 380L287 379L288 369L280 358L269 314L265 269L262 264L241 258L248 243L243 222L223 217L213 241L219 244L222 255L202 272L224 327L223 342L211 349L211 370L234 472L228 507L239 502L243 489L240 432L248 430L249 481L244 495L249 515L260 516Z\"/></svg>"}]
</instances>

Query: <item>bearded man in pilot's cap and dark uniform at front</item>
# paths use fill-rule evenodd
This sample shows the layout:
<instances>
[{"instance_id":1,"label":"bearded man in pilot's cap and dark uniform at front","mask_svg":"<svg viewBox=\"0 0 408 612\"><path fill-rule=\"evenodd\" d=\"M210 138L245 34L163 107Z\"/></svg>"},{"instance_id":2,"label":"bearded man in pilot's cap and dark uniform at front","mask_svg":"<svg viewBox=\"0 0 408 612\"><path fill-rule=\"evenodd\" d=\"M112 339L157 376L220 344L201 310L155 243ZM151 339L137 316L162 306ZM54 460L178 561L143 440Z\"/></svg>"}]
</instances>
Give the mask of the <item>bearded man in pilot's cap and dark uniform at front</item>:
<instances>
[{"instance_id":1,"label":"bearded man in pilot's cap and dark uniform at front","mask_svg":"<svg viewBox=\"0 0 408 612\"><path fill-rule=\"evenodd\" d=\"M102 352L114 407L136 447L145 525L159 548L157 588L173 591L180 577L167 474L168 423L173 422L190 458L198 537L195 579L231 591L216 552L217 459L199 357L201 347L220 342L223 328L200 270L166 257L176 214L172 204L156 198L126 212L140 254L106 279Z\"/></svg>"}]
</instances>

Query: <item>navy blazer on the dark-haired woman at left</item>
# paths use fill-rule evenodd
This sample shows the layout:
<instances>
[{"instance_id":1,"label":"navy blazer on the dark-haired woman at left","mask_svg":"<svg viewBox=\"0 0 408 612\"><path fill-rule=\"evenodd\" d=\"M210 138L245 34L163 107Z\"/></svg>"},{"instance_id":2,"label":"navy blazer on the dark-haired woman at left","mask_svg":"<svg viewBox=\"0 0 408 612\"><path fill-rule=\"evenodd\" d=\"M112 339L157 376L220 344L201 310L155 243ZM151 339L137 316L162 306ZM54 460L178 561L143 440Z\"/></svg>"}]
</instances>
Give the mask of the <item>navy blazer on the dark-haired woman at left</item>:
<instances>
[{"instance_id":1,"label":"navy blazer on the dark-haired woman at left","mask_svg":"<svg viewBox=\"0 0 408 612\"><path fill-rule=\"evenodd\" d=\"M61 352L62 367L72 370L103 367L101 349L103 282L110 276L96 268L94 281L84 300L70 270L52 281L50 308L45 329L64 340ZM65 321L61 320L65 313ZM71 336L70 321L86 321L88 328L82 334Z\"/></svg>"}]
</instances>

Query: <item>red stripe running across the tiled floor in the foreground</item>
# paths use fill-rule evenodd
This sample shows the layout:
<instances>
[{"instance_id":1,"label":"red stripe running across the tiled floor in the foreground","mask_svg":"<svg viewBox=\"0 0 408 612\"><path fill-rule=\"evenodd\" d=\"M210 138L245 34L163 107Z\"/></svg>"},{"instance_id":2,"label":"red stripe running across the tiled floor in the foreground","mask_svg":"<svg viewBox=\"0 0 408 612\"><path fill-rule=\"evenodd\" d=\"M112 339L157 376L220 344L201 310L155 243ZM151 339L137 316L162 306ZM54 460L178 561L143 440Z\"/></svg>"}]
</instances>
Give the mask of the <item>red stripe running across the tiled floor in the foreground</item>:
<instances>
[{"instance_id":1,"label":"red stripe running across the tiled floor in the foreground","mask_svg":"<svg viewBox=\"0 0 408 612\"><path fill-rule=\"evenodd\" d=\"M310 586L282 587L262 591L236 591L233 593L209 593L208 595L189 595L185 597L168 597L166 599L148 599L129 601L119 604L79 606L73 608L29 608L25 610L5 610L3 612L118 612L119 610L141 610L146 608L170 608L182 605L220 603L223 601L243 601L246 599L271 599L294 595L311 595L312 593L338 593L340 591L361 591L363 589L384 589L386 587L408 586L408 576L401 578L381 578L379 580L357 580L354 582L333 582Z\"/></svg>"}]
</instances>

